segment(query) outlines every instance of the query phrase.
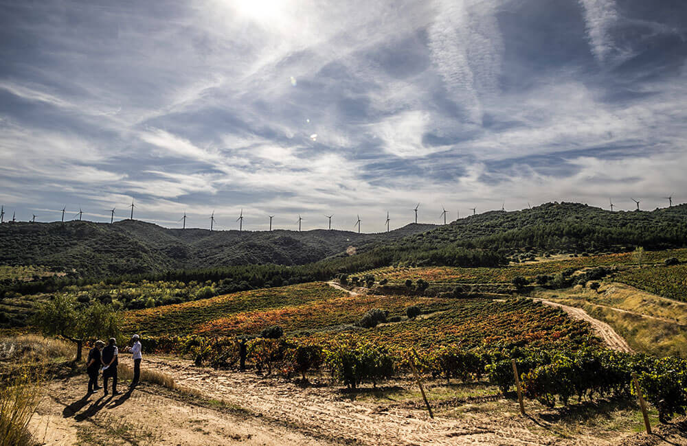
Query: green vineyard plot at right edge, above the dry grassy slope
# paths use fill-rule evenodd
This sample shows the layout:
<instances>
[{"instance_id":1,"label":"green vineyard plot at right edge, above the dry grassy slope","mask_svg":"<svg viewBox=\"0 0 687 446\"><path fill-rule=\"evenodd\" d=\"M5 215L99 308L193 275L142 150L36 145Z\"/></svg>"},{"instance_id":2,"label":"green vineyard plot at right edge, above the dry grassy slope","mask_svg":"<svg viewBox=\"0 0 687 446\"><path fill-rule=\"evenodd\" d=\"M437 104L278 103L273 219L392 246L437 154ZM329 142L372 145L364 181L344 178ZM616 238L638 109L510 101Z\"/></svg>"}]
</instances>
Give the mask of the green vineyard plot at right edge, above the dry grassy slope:
<instances>
[{"instance_id":1,"label":"green vineyard plot at right edge, above the dry grassy slope","mask_svg":"<svg viewBox=\"0 0 687 446\"><path fill-rule=\"evenodd\" d=\"M687 302L687 265L635 268L622 272L616 280L659 296Z\"/></svg>"}]
</instances>

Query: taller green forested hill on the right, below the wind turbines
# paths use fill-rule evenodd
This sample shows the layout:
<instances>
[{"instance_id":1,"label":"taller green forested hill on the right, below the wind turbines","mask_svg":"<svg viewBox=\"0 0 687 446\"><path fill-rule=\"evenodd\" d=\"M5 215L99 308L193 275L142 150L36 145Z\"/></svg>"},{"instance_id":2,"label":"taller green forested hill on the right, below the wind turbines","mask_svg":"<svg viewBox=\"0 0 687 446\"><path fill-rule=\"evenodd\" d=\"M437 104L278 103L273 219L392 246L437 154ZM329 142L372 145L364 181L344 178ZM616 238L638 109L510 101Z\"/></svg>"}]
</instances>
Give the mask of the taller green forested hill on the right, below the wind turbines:
<instances>
[{"instance_id":1,"label":"taller green forested hill on the right, below the wind turbines","mask_svg":"<svg viewBox=\"0 0 687 446\"><path fill-rule=\"evenodd\" d=\"M687 246L687 204L653 211L606 211L578 203L546 203L522 211L491 211L462 218L398 244L440 248L462 246L500 251L589 252L634 246Z\"/></svg>"}]
</instances>

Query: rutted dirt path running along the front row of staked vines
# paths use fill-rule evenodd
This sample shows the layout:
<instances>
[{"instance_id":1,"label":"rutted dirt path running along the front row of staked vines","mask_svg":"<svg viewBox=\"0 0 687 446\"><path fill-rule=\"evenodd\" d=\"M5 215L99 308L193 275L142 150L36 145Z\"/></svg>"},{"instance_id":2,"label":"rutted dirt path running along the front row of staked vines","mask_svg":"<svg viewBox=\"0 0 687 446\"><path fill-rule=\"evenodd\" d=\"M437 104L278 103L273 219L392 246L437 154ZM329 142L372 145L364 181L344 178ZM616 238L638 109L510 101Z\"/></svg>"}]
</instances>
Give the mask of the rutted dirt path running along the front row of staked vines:
<instances>
[{"instance_id":1,"label":"rutted dirt path running along the front row of staked vines","mask_svg":"<svg viewBox=\"0 0 687 446\"><path fill-rule=\"evenodd\" d=\"M480 413L460 419L425 410L382 407L347 399L329 387L300 387L253 372L216 371L188 360L146 357L145 366L208 397L245 408L265 421L288 427L323 443L365 445L550 445L585 444L537 434L530 419L515 413ZM531 426L530 426L531 425ZM530 429L532 431L530 431Z\"/></svg>"}]
</instances>

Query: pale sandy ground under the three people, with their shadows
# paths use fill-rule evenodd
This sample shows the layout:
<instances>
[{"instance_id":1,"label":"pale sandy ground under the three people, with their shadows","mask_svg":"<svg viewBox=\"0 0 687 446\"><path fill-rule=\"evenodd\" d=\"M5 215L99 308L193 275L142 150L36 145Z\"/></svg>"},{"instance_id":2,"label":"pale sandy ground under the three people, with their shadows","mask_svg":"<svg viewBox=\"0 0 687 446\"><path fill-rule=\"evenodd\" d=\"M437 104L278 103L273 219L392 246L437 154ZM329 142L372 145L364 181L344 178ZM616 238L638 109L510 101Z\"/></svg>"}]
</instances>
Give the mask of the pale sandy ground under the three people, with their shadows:
<instances>
[{"instance_id":1,"label":"pale sandy ground under the three people, with their shadows","mask_svg":"<svg viewBox=\"0 0 687 446\"><path fill-rule=\"evenodd\" d=\"M85 397L87 377L49 383L30 430L42 445L320 445L299 432L198 406L164 388ZM120 391L128 390L122 387Z\"/></svg>"}]
</instances>

